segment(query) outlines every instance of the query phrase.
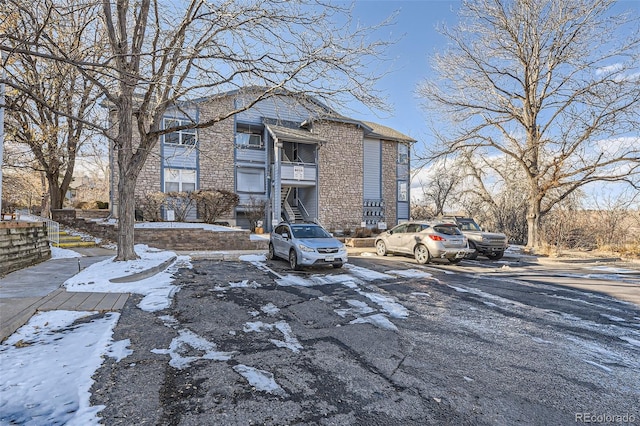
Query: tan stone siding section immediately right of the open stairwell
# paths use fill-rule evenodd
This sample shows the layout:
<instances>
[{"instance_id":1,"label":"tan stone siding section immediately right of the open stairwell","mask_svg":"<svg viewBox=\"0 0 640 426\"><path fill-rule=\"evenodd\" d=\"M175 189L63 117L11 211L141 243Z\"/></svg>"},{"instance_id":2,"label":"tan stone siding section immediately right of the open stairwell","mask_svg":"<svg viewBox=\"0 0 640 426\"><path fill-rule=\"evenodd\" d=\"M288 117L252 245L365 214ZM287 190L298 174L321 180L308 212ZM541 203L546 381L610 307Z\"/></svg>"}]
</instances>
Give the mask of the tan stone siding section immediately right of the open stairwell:
<instances>
[{"instance_id":1,"label":"tan stone siding section immediately right of the open stairwell","mask_svg":"<svg viewBox=\"0 0 640 426\"><path fill-rule=\"evenodd\" d=\"M352 124L316 122L326 140L319 150L319 220L330 229L355 229L363 216L363 130Z\"/></svg>"}]
</instances>

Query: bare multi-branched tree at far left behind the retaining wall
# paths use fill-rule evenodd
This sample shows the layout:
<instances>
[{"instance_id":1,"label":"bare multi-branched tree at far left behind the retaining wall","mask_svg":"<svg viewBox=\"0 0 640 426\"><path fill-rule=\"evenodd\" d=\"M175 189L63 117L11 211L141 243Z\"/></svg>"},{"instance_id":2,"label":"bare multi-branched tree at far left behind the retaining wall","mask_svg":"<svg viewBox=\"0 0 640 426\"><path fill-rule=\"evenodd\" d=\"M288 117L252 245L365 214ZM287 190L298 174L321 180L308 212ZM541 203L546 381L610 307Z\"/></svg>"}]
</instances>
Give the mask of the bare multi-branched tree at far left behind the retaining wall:
<instances>
[{"instance_id":1,"label":"bare multi-branched tree at far left behind the retaining wall","mask_svg":"<svg viewBox=\"0 0 640 426\"><path fill-rule=\"evenodd\" d=\"M21 2L13 9L13 29L3 40L7 85L6 140L28 146L35 169L48 183L50 207L60 209L72 181L76 156L89 137L99 92L73 64L59 61L64 52L75 61L95 61L92 21L73 4ZM28 41L29 49L24 49ZM37 52L37 55L32 54ZM48 214L48 212L42 212Z\"/></svg>"}]
</instances>

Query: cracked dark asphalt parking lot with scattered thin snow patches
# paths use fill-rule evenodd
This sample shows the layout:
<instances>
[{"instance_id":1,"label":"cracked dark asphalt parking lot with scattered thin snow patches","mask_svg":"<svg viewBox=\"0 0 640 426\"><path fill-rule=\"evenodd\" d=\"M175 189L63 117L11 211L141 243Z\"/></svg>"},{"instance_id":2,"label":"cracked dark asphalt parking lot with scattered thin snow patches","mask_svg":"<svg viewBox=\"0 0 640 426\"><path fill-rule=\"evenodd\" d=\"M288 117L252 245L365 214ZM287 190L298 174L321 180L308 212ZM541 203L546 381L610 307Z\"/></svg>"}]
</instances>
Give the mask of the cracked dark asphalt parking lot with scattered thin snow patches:
<instances>
[{"instance_id":1,"label":"cracked dark asphalt parking lot with scattered thin snow patches","mask_svg":"<svg viewBox=\"0 0 640 426\"><path fill-rule=\"evenodd\" d=\"M127 302L133 353L91 402L110 425L638 424L640 311L598 291L638 276L607 267L195 260L170 308Z\"/></svg>"}]
</instances>

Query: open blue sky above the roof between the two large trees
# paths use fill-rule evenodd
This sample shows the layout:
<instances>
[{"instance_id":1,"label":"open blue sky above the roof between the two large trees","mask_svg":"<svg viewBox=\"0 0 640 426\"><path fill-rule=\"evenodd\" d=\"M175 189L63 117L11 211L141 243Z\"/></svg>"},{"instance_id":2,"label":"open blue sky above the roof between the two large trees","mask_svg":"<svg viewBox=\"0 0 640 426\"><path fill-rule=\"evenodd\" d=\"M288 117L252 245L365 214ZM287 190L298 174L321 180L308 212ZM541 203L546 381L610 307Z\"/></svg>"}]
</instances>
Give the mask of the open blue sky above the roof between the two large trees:
<instances>
[{"instance_id":1,"label":"open blue sky above the roof between the two large trees","mask_svg":"<svg viewBox=\"0 0 640 426\"><path fill-rule=\"evenodd\" d=\"M436 26L441 23L454 26L458 22L460 3L454 0L355 0L353 19L363 25L380 23L397 11L395 24L386 27L379 36L401 39L388 51L388 56L393 58L394 71L380 84L394 111L375 114L355 105L351 107L356 112L348 112L347 115L374 121L411 136L418 141L418 150L429 143L431 132L415 90L418 83L429 76L430 56L442 51L446 43L446 39L436 31ZM633 8L640 11L640 0L620 0L615 12Z\"/></svg>"}]
</instances>

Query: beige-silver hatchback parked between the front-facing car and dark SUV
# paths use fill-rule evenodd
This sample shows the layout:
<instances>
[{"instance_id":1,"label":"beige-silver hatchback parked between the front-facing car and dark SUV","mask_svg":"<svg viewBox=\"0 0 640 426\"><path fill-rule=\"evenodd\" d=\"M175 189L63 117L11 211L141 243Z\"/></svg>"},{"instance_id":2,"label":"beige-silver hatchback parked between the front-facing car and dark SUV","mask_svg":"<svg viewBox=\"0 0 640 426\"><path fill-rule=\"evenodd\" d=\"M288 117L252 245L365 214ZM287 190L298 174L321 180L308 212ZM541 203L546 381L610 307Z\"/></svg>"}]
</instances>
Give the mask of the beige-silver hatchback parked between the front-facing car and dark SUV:
<instances>
[{"instance_id":1,"label":"beige-silver hatchback parked between the front-facing car and dark SUV","mask_svg":"<svg viewBox=\"0 0 640 426\"><path fill-rule=\"evenodd\" d=\"M418 263L429 263L431 259L447 259L458 263L471 252L467 237L460 229L447 222L405 222L378 235L375 240L376 253L413 255Z\"/></svg>"}]
</instances>

